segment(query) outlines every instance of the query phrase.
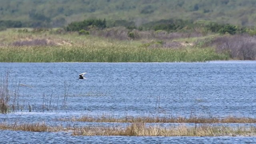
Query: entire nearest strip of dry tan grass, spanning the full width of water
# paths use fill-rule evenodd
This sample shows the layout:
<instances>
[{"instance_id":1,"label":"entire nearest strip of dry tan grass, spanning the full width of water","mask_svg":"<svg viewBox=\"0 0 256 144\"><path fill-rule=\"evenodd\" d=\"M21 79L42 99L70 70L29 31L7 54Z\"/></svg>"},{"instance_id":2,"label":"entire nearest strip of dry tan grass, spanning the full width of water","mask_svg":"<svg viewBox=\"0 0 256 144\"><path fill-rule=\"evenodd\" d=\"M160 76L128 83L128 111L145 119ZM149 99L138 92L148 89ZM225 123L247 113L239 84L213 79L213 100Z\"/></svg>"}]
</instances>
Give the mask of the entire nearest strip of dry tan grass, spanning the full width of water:
<instances>
[{"instance_id":1,"label":"entire nearest strip of dry tan grass, spanning the full width of water","mask_svg":"<svg viewBox=\"0 0 256 144\"><path fill-rule=\"evenodd\" d=\"M145 123L135 122L129 126L48 126L45 123L0 124L1 130L30 131L30 132L72 132L73 136L256 136L253 126L146 126Z\"/></svg>"}]
</instances>

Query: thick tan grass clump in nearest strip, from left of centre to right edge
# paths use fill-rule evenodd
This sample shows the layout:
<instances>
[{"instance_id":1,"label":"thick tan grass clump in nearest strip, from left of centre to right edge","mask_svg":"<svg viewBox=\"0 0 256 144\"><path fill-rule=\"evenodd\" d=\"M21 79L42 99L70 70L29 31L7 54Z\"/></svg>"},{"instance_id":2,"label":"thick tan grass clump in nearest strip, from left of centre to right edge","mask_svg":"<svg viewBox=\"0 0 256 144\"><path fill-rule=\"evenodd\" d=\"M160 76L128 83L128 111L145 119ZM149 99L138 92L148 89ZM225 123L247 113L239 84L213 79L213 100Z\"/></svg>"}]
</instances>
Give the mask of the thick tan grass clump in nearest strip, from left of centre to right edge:
<instances>
[{"instance_id":1,"label":"thick tan grass clump in nearest strip, from left of centre to right edge","mask_svg":"<svg viewBox=\"0 0 256 144\"><path fill-rule=\"evenodd\" d=\"M146 126L145 123L132 123L123 128L121 126L84 126L76 128L73 136L255 136L255 127L226 127L226 126Z\"/></svg>"}]
</instances>

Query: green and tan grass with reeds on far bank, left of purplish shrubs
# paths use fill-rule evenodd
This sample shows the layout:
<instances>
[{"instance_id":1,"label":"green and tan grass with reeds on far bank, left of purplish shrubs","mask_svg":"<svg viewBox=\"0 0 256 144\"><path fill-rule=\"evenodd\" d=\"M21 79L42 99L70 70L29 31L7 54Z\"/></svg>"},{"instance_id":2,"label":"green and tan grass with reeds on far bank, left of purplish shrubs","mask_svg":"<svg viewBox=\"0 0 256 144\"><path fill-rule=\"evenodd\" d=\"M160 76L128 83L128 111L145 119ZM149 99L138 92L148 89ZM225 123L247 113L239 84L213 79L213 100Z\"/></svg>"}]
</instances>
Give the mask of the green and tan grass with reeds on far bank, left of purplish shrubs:
<instances>
[{"instance_id":1,"label":"green and tan grass with reeds on far bank, left of purplish shrubs","mask_svg":"<svg viewBox=\"0 0 256 144\"><path fill-rule=\"evenodd\" d=\"M194 48L170 40L148 46L142 41L151 39L117 40L76 33L18 33L15 30L0 34L3 37L0 62L205 62L229 58L214 48ZM173 38L176 37L182 36L173 34Z\"/></svg>"}]
</instances>

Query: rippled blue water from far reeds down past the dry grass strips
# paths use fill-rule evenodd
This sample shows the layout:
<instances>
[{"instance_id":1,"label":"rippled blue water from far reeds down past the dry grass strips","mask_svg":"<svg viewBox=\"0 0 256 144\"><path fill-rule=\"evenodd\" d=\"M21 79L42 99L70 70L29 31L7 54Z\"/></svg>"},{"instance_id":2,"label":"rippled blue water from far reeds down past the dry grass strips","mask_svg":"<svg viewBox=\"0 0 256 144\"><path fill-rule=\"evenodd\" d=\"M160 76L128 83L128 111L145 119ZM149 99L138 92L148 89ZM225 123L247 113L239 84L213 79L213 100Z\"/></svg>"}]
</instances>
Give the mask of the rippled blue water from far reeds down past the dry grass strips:
<instances>
[{"instance_id":1,"label":"rippled blue water from far reeds down past the dry grass strips","mask_svg":"<svg viewBox=\"0 0 256 144\"><path fill-rule=\"evenodd\" d=\"M8 70L12 91L20 83L20 105L14 114L0 115L0 121L48 121L82 114L114 116L166 114L173 116L256 116L256 62L205 63L0 63L2 77ZM87 72L86 80L78 75ZM68 90L61 109L64 82ZM51 110L42 112L46 100ZM28 112L28 104L33 112ZM56 107L58 104L58 107ZM159 108L160 107L160 108ZM54 123L54 122L53 122ZM18 132L8 132L16 134ZM23 135L37 137L39 133ZM6 131L2 132L7 134ZM46 137L66 135L44 133ZM71 137L77 140L112 142L181 142L193 140L234 143L237 138L189 137ZM16 140L18 137L16 138ZM65 138L66 139L66 138ZM252 138L239 138L250 142ZM117 141L116 141L117 140ZM134 141L133 141L134 140ZM155 141L154 141L155 140ZM208 140L208 141L205 141ZM227 140L227 141L225 141ZM199 142L198 141L198 142ZM15 142L15 139L14 139ZM54 141L52 141L54 142ZM86 141L84 141L86 142ZM241 141L242 142L242 141ZM255 142L255 138L254 138ZM24 143L26 143L24 141Z\"/></svg>"}]
</instances>

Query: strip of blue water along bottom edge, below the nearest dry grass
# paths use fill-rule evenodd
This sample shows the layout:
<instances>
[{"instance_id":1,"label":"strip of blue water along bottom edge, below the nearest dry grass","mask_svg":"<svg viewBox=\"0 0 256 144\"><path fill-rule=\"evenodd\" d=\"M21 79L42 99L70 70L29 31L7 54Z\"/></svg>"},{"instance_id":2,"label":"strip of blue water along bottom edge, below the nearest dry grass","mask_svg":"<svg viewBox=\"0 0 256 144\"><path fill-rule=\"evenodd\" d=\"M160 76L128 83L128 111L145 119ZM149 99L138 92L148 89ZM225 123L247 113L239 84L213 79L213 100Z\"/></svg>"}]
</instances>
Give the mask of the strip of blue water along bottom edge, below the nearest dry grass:
<instances>
[{"instance_id":1,"label":"strip of blue water along bottom edge, below the nearest dry grass","mask_svg":"<svg viewBox=\"0 0 256 144\"><path fill-rule=\"evenodd\" d=\"M70 136L53 132L0 132L3 144L255 144L256 137Z\"/></svg>"}]
</instances>

